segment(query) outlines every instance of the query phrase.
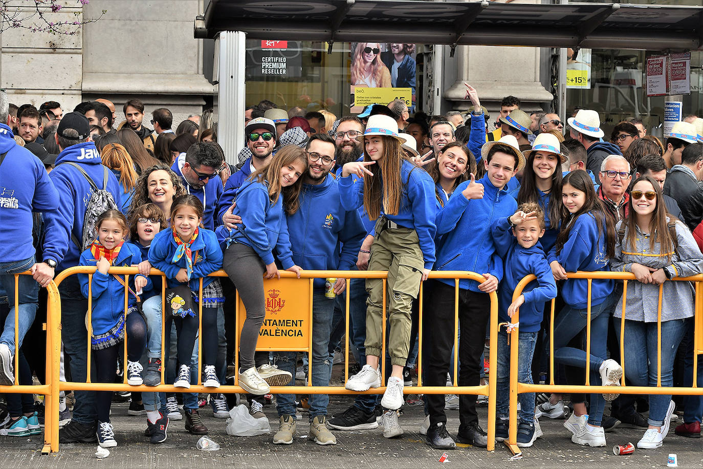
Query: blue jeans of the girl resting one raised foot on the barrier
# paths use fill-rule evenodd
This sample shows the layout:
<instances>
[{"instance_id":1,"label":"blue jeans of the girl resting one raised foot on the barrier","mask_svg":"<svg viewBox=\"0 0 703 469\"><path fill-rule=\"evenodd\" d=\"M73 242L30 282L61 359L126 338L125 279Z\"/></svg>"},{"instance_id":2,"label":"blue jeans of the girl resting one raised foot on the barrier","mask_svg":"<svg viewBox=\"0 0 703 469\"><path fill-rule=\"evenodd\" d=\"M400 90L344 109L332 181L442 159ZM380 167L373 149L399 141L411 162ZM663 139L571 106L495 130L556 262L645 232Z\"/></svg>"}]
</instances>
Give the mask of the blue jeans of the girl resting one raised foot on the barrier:
<instances>
[{"instance_id":1,"label":"blue jeans of the girl resting one raised foot on the barrier","mask_svg":"<svg viewBox=\"0 0 703 469\"><path fill-rule=\"evenodd\" d=\"M607 297L600 304L591 304L591 385L600 385L598 368L607 358L608 321L612 310L613 297ZM558 363L586 368L586 352L566 345L581 331L586 329L588 316L586 308L576 309L567 305L554 319L554 359ZM585 342L585 339L584 339ZM605 409L602 394L591 394L591 408L588 409L588 423L600 427Z\"/></svg>"}]
</instances>

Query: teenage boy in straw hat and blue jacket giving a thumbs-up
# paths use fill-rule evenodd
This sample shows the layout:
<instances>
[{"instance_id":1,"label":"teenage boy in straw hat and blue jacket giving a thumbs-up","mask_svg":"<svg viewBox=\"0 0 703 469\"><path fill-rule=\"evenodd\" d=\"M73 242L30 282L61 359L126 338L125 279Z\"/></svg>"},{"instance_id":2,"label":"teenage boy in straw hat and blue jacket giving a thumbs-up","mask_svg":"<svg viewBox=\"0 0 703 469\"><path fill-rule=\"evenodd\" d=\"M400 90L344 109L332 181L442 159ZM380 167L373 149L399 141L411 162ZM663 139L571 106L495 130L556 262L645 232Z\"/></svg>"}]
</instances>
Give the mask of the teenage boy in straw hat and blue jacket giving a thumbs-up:
<instances>
[{"instance_id":1,"label":"teenage boy in straw hat and blue jacket giving a thumbs-up","mask_svg":"<svg viewBox=\"0 0 703 469\"><path fill-rule=\"evenodd\" d=\"M473 271L485 278L482 283L459 281L460 386L479 385L481 355L490 318L489 294L498 288L498 281L503 277L503 262L496 253L491 226L497 219L510 217L517 210L517 203L508 195L506 185L524 167L524 156L513 136L488 142L481 152L486 175L475 181L471 174L471 179L459 184L437 213L437 237L443 236L437 250L437 270ZM454 345L456 291L453 278L439 279L430 295L434 310L424 316L425 331L430 334L431 343L425 355L425 383L445 386ZM465 394L459 399L459 442L486 447L488 435L479 426L476 395ZM428 395L427 404L430 411L428 444L436 449L453 449L455 444L446 430L444 396Z\"/></svg>"}]
</instances>

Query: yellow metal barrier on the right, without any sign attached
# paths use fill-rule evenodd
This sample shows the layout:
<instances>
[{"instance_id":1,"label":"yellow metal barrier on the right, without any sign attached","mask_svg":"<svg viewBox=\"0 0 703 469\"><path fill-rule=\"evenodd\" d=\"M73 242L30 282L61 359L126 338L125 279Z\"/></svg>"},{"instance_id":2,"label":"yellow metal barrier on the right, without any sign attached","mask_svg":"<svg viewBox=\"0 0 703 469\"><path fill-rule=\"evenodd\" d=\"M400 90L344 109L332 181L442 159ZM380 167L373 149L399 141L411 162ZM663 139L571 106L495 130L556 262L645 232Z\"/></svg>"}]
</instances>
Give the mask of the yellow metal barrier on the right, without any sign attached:
<instances>
[{"instance_id":1,"label":"yellow metal barrier on the right, without any sign attached","mask_svg":"<svg viewBox=\"0 0 703 469\"><path fill-rule=\"evenodd\" d=\"M591 364L588 357L591 354L591 283L593 280L603 280L612 279L617 281L623 281L623 304L622 304L622 319L626 319L625 316L625 305L627 301L627 283L628 281L636 281L634 274L626 272L573 272L567 273L568 278L583 278L588 281L588 302L586 305L586 378L585 385L555 385L554 384L554 308L555 300L551 302L550 308L550 328L549 328L549 383L544 385L538 384L526 384L518 383L517 380L517 364L518 364L518 338L520 333L520 314L519 311L512 316L512 323L516 326L508 331L508 337L512 338L510 340L510 430L508 432L508 439L505 440L505 445L508 446L513 454L520 454L520 448L517 446L517 394L523 392L564 392L564 393L612 393L614 390L609 386L595 386L590 384L590 371ZM529 275L523 278L520 283L517 284L515 292L512 294L512 301L517 300L520 295L522 295L522 290L531 282L536 280L536 276ZM695 282L695 339L694 339L694 350L693 350L693 385L692 387L662 387L662 285L659 285L659 305L657 313L657 386L626 386L625 385L625 373L626 373L626 359L625 359L625 321L621 321L620 326L620 356L621 356L621 366L623 368L621 387L617 388L617 392L620 394L703 394L703 387L697 387L697 361L698 355L703 354L703 274L692 277L681 277L673 278L672 281L691 281ZM619 299L617 299L619 300ZM547 311L545 311L547 314ZM493 348L491 347L491 352ZM491 371L494 368L491 368ZM494 373L491 373L494 374ZM490 422L489 422L490 423Z\"/></svg>"}]
</instances>

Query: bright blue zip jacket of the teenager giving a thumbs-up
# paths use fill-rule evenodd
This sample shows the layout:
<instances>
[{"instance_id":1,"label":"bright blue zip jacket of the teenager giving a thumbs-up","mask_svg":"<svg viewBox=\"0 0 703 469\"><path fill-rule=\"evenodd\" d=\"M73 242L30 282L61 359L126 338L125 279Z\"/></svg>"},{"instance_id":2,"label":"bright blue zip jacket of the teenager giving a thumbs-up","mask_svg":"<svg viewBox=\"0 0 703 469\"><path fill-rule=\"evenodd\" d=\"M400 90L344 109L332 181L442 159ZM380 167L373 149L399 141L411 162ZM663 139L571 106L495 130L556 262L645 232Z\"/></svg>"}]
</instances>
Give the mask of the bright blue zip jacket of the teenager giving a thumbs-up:
<instances>
[{"instance_id":1,"label":"bright blue zip jacket of the teenager giving a thumbs-up","mask_svg":"<svg viewBox=\"0 0 703 469\"><path fill-rule=\"evenodd\" d=\"M482 199L469 200L462 191L471 181L464 181L454 190L449 202L437 213L437 236L443 236L437 252L436 270L465 270L503 278L503 261L496 253L491 226L502 217L517 210L515 199L508 191L498 189L488 174L479 179L484 186ZM440 282L454 285L451 278ZM479 292L477 281L462 279L459 288Z\"/></svg>"}]
</instances>

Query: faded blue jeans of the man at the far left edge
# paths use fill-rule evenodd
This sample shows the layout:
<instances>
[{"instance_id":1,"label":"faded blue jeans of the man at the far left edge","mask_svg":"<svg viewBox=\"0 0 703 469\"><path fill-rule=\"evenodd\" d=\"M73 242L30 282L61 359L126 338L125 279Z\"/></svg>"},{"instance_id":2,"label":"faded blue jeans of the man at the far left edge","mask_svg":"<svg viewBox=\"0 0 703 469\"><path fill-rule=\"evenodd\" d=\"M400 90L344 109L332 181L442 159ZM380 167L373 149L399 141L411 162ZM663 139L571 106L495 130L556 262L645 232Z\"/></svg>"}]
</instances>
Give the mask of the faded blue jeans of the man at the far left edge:
<instances>
[{"instance_id":1,"label":"faded blue jeans of the man at the far left edge","mask_svg":"<svg viewBox=\"0 0 703 469\"><path fill-rule=\"evenodd\" d=\"M0 343L7 345L13 354L15 354L15 277L13 274L29 270L33 265L34 256L22 261L0 262L0 284L7 293L7 301L10 306L10 314L5 320ZM17 341L18 346L22 347L22 340L24 340L27 330L30 330L34 322L34 316L37 315L39 283L31 275L20 275L17 282L19 293L18 332L20 335Z\"/></svg>"}]
</instances>

